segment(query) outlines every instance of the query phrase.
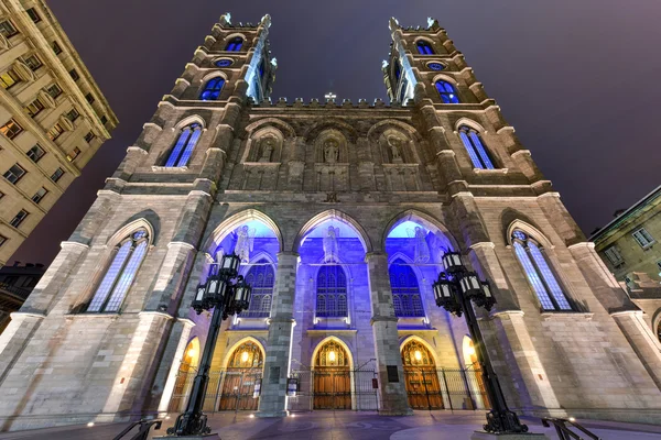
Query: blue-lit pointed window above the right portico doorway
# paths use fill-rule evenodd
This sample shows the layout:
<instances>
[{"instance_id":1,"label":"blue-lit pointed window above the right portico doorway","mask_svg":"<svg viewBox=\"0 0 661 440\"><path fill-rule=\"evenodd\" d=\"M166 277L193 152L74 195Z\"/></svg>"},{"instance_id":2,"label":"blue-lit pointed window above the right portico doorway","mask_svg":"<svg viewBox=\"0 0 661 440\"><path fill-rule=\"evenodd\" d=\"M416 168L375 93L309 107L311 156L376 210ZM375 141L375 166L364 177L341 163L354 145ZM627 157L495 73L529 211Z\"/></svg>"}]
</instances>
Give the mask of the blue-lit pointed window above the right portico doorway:
<instances>
[{"instance_id":1,"label":"blue-lit pointed window above the right portico doorway","mask_svg":"<svg viewBox=\"0 0 661 440\"><path fill-rule=\"evenodd\" d=\"M399 318L424 317L418 277L411 266L403 260L397 258L390 265L389 272L394 316Z\"/></svg>"}]
</instances>

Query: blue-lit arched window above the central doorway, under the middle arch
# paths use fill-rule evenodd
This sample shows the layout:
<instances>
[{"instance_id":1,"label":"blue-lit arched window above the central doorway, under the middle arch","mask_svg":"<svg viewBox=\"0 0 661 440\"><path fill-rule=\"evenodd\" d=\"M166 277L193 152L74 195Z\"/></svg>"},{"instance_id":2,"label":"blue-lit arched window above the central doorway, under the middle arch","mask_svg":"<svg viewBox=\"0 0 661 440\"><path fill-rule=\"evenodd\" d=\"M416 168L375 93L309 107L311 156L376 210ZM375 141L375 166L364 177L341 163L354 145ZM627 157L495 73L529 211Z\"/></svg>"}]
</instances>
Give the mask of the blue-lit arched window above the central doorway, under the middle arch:
<instances>
[{"instance_id":1,"label":"blue-lit arched window above the central doorway, under the middle arch","mask_svg":"<svg viewBox=\"0 0 661 440\"><path fill-rule=\"evenodd\" d=\"M322 318L347 315L347 276L340 265L322 266L317 274L316 314Z\"/></svg>"}]
</instances>

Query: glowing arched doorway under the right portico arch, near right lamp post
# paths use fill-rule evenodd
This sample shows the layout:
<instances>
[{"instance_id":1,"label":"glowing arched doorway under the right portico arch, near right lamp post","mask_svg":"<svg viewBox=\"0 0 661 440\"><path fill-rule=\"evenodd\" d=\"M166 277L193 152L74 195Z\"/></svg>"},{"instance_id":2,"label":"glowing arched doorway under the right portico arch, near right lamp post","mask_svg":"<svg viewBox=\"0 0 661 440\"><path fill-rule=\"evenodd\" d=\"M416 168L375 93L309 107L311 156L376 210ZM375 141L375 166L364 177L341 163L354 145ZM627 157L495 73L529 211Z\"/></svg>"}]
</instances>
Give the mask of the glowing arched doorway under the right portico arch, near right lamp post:
<instances>
[{"instance_id":1,"label":"glowing arched doorway under the right portico arch, near right lamp post","mask_svg":"<svg viewBox=\"0 0 661 440\"><path fill-rule=\"evenodd\" d=\"M413 409L443 409L436 363L420 341L410 340L402 348L402 364L409 406Z\"/></svg>"}]
</instances>

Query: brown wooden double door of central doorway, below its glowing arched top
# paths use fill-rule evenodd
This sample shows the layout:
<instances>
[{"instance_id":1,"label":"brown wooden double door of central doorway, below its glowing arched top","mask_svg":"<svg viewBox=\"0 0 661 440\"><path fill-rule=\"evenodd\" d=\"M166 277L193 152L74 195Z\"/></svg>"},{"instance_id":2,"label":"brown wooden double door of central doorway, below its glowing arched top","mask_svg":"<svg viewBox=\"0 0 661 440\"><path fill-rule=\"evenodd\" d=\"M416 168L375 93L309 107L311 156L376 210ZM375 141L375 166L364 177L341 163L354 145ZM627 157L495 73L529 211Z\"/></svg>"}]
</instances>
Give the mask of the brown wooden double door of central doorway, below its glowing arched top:
<instances>
[{"instance_id":1,"label":"brown wooden double door of central doorway, below its glowing arched top","mask_svg":"<svg viewBox=\"0 0 661 440\"><path fill-rule=\"evenodd\" d=\"M351 372L348 367L314 370L314 409L351 409Z\"/></svg>"}]
</instances>

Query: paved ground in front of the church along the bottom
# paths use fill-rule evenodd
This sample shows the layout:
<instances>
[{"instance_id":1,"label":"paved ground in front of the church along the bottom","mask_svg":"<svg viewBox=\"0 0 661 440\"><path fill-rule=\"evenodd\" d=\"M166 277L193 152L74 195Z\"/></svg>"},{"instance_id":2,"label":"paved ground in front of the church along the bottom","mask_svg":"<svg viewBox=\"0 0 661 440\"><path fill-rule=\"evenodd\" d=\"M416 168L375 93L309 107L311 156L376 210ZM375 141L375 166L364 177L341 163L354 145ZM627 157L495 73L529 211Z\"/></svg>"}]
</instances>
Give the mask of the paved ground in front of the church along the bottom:
<instances>
[{"instance_id":1,"label":"paved ground in front of the church along the bottom","mask_svg":"<svg viewBox=\"0 0 661 440\"><path fill-rule=\"evenodd\" d=\"M258 419L247 413L216 414L210 418L214 432L223 440L459 440L469 439L479 429L484 414L473 411L416 411L413 417L380 417L373 413L315 411L294 414L280 419ZM173 418L153 432L162 436ZM541 426L539 419L525 419L533 432L544 432L557 439L552 428ZM604 440L661 440L661 426L619 424L588 420L582 422ZM126 425L61 427L0 435L0 440L109 440ZM127 440L130 437L127 437ZM150 437L151 439L152 437Z\"/></svg>"}]
</instances>

